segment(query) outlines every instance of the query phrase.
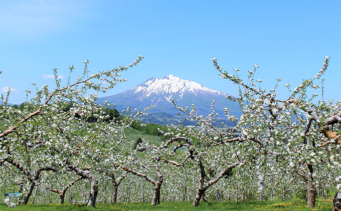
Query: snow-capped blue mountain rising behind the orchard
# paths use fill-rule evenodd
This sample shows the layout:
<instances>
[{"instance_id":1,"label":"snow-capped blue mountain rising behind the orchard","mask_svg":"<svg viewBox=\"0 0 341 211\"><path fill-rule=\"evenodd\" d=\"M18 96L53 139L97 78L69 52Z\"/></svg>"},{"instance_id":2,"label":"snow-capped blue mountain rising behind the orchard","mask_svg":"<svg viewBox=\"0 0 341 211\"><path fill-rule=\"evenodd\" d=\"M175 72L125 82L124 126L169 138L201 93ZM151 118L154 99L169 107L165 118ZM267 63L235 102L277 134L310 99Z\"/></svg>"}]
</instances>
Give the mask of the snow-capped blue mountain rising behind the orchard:
<instances>
[{"instance_id":1,"label":"snow-capped blue mountain rising behind the orchard","mask_svg":"<svg viewBox=\"0 0 341 211\"><path fill-rule=\"evenodd\" d=\"M178 106L195 105L199 114L208 114L211 112L212 101L216 101L215 111L224 115L224 108L229 108L233 115L241 114L237 103L226 100L228 94L215 91L202 86L199 83L180 79L174 75L168 75L163 78L150 78L142 84L133 87L125 92L99 98L96 102L103 104L104 101L115 103L118 111L126 109L127 106L143 110L148 106L153 108L153 112L166 112L176 114L178 111L172 104L172 99Z\"/></svg>"}]
</instances>

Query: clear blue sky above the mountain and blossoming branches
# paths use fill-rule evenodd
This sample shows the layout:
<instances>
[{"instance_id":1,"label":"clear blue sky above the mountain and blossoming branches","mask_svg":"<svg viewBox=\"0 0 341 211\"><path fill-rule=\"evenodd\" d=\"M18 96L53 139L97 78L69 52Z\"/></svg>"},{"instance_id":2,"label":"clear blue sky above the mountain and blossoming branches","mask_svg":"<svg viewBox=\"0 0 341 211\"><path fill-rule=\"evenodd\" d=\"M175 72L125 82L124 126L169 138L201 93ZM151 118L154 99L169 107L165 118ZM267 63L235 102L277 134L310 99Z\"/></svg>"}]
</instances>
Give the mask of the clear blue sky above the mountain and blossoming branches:
<instances>
[{"instance_id":1,"label":"clear blue sky above the mountain and blossoming branches","mask_svg":"<svg viewBox=\"0 0 341 211\"><path fill-rule=\"evenodd\" d=\"M313 78L329 56L325 98L341 99L341 3L332 1L80 1L0 2L0 91L12 87L10 103L25 101L26 89L50 84L53 68L67 81L68 67L81 75L128 66L128 82L100 96L132 88L151 77L173 74L208 88L237 95L220 78L224 70L256 79L270 89L282 79L279 99ZM320 95L320 93L316 93ZM33 95L32 95L33 97Z\"/></svg>"}]
</instances>

